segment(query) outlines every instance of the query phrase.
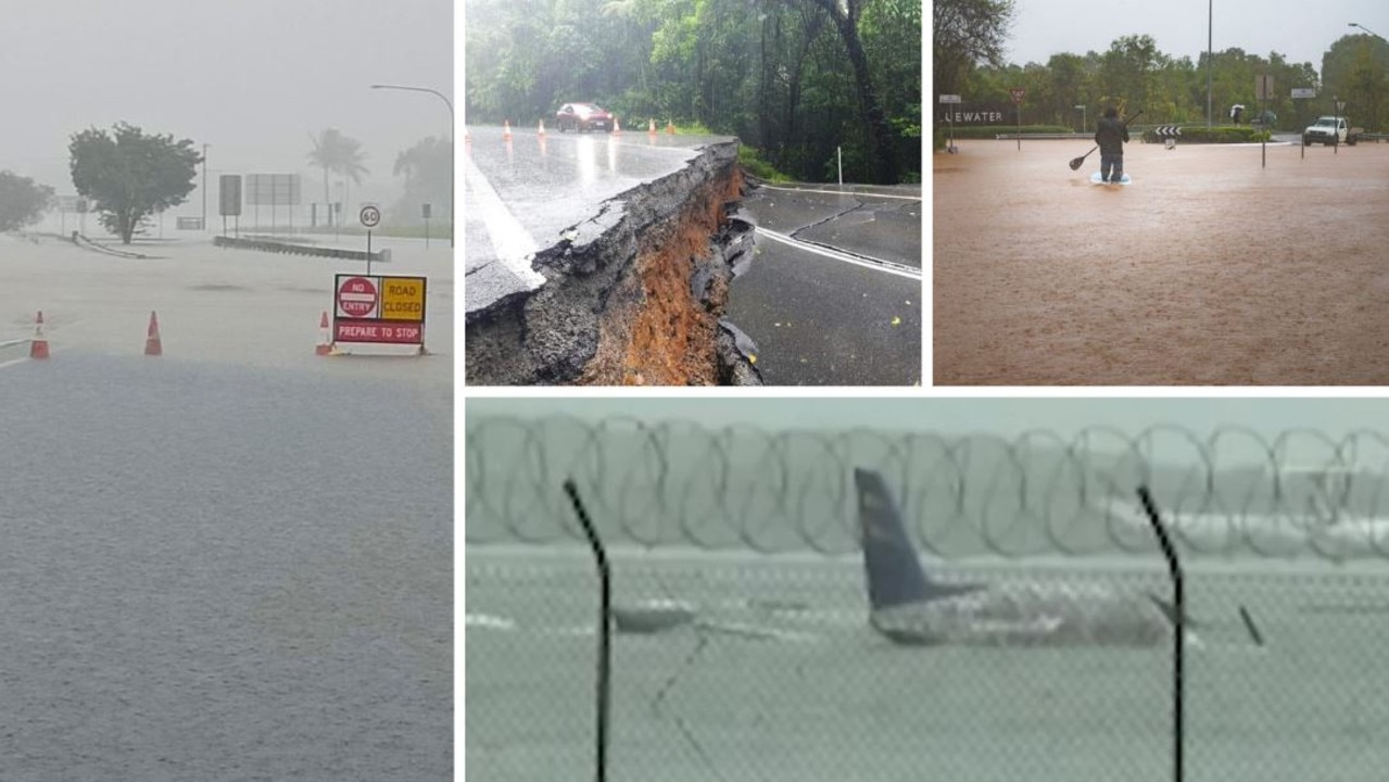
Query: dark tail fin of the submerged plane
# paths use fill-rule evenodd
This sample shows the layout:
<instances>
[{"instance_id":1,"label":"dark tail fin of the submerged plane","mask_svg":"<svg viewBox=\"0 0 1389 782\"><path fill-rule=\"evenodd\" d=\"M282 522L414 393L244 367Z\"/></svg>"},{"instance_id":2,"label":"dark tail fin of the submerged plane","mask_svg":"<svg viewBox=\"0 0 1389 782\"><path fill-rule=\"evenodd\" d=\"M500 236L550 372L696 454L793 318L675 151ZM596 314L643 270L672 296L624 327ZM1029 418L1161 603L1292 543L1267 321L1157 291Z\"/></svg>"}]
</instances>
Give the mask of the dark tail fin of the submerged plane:
<instances>
[{"instance_id":1,"label":"dark tail fin of the submerged plane","mask_svg":"<svg viewBox=\"0 0 1389 782\"><path fill-rule=\"evenodd\" d=\"M940 600L982 589L979 585L931 581L907 538L907 528L882 475L871 469L854 469L854 485L858 489L858 526L872 610Z\"/></svg>"}]
</instances>

